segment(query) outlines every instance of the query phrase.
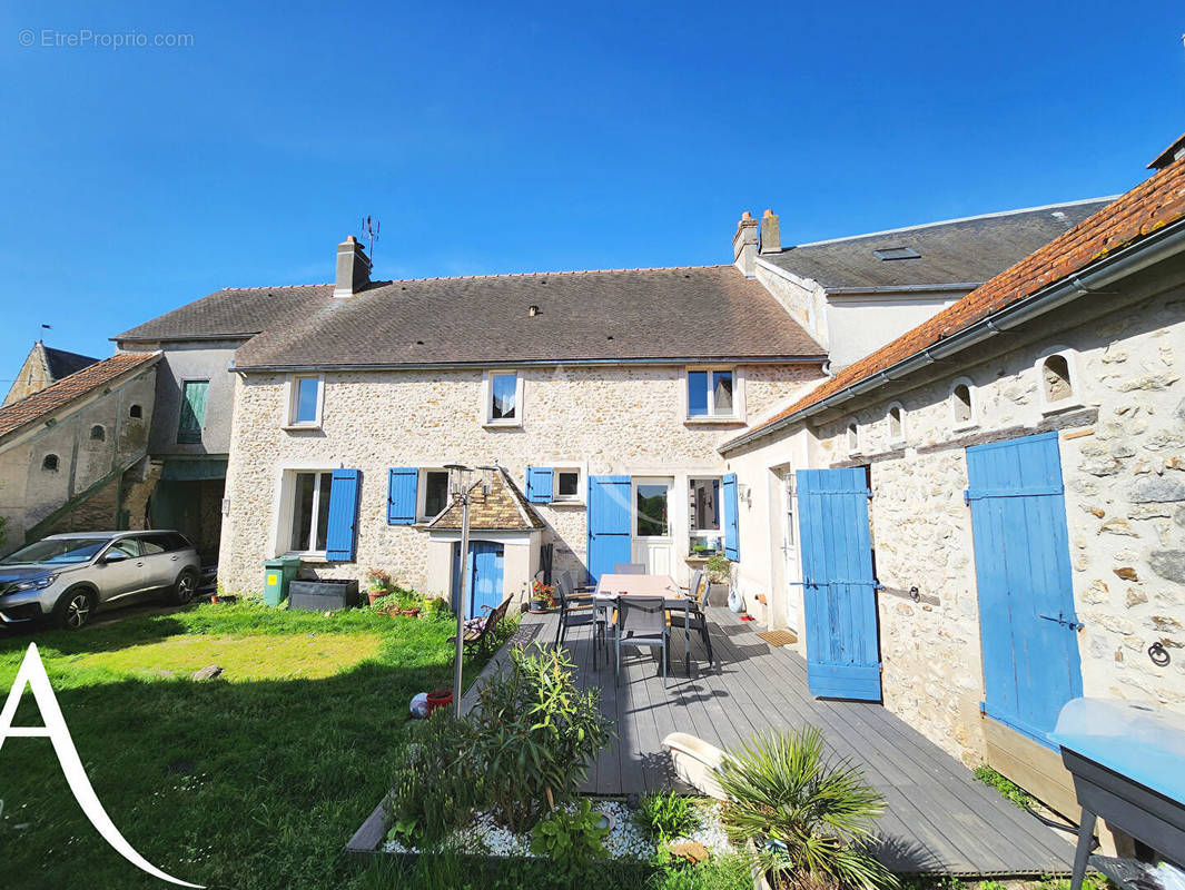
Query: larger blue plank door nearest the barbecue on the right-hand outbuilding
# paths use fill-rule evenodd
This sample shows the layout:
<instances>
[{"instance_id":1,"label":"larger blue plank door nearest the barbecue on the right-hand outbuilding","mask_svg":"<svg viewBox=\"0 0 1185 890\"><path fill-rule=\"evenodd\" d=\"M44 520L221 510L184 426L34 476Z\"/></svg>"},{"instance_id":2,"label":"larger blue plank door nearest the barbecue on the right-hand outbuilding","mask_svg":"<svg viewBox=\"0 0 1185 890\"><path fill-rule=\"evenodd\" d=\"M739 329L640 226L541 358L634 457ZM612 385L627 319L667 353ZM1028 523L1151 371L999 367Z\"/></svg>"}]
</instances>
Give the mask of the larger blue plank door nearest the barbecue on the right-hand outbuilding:
<instances>
[{"instance_id":1,"label":"larger blue plank door nearest the barbecue on the right-hand outbuilding","mask_svg":"<svg viewBox=\"0 0 1185 890\"><path fill-rule=\"evenodd\" d=\"M1057 434L967 449L984 711L1042 744L1082 694Z\"/></svg>"}]
</instances>

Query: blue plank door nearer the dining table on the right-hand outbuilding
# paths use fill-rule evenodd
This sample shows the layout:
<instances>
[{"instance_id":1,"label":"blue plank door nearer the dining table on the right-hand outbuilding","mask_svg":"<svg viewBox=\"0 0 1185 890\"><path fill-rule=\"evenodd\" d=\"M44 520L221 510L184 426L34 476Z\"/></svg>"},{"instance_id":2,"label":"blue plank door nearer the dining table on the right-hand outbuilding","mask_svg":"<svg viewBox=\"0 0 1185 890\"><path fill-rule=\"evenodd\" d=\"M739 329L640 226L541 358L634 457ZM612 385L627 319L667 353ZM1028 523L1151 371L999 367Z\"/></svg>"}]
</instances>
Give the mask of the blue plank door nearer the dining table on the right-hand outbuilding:
<instances>
[{"instance_id":1,"label":"blue plank door nearer the dining table on the right-hand outbuilding","mask_svg":"<svg viewBox=\"0 0 1185 890\"><path fill-rule=\"evenodd\" d=\"M800 469L798 492L811 693L879 702L877 582L864 468Z\"/></svg>"}]
</instances>

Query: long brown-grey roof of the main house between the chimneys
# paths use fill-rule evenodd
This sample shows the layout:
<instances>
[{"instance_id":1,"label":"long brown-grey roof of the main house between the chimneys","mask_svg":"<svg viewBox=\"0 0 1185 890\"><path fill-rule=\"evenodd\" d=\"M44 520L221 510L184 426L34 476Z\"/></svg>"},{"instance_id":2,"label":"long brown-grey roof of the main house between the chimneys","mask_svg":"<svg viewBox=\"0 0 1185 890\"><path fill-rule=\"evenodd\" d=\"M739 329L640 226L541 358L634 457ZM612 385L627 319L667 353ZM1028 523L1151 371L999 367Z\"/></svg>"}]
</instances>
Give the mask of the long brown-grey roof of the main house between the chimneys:
<instances>
[{"instance_id":1,"label":"long brown-grey roof of the main house between the chimneys","mask_svg":"<svg viewBox=\"0 0 1185 890\"><path fill-rule=\"evenodd\" d=\"M206 300L224 293L244 292ZM824 356L732 265L391 281L342 300L302 293L305 309L239 347L237 369Z\"/></svg>"}]
</instances>

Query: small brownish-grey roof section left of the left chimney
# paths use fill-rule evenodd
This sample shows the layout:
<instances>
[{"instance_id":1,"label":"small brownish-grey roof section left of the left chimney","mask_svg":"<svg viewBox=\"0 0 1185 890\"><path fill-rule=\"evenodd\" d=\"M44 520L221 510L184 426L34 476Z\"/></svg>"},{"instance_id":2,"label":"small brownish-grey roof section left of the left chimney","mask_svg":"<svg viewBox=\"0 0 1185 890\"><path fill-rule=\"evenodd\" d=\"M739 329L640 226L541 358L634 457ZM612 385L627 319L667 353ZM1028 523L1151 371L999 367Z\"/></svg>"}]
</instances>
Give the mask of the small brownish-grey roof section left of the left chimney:
<instances>
[{"instance_id":1,"label":"small brownish-grey roof section left of the left chimney","mask_svg":"<svg viewBox=\"0 0 1185 890\"><path fill-rule=\"evenodd\" d=\"M223 288L111 338L116 341L217 340L252 337L313 312L333 297L333 284Z\"/></svg>"}]
</instances>

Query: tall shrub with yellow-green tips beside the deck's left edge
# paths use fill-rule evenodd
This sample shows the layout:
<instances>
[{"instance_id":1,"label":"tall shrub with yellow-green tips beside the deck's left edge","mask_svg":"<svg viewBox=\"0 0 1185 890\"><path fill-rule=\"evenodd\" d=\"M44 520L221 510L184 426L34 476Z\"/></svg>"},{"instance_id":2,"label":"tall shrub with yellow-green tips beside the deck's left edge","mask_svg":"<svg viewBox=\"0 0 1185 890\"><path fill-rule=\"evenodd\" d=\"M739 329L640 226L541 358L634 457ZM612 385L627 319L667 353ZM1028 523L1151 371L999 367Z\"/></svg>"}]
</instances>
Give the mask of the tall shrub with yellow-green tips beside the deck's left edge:
<instances>
[{"instance_id":1,"label":"tall shrub with yellow-green tips beside the deck's left edge","mask_svg":"<svg viewBox=\"0 0 1185 890\"><path fill-rule=\"evenodd\" d=\"M488 799L513 831L576 793L609 742L597 689L581 691L565 649L511 649L511 667L478 692L475 719Z\"/></svg>"}]
</instances>

